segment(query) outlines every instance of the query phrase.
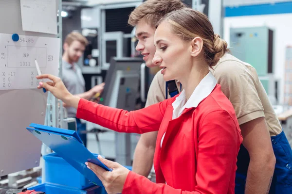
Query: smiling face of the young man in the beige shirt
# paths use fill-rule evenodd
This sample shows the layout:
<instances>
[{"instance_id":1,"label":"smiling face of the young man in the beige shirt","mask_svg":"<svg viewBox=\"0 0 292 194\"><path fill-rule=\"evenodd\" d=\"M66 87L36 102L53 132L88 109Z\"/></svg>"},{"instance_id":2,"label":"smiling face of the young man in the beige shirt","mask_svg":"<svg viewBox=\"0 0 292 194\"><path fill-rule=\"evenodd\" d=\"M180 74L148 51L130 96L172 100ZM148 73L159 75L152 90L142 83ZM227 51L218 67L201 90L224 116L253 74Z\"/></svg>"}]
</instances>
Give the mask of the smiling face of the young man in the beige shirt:
<instances>
[{"instance_id":1,"label":"smiling face of the young man in the beige shirt","mask_svg":"<svg viewBox=\"0 0 292 194\"><path fill-rule=\"evenodd\" d=\"M140 51L143 55L143 60L147 67L154 67L156 65L152 64L152 60L156 51L154 46L154 33L155 28L147 24L145 21L140 21L136 25L136 38L138 39L138 44L136 50Z\"/></svg>"}]
</instances>

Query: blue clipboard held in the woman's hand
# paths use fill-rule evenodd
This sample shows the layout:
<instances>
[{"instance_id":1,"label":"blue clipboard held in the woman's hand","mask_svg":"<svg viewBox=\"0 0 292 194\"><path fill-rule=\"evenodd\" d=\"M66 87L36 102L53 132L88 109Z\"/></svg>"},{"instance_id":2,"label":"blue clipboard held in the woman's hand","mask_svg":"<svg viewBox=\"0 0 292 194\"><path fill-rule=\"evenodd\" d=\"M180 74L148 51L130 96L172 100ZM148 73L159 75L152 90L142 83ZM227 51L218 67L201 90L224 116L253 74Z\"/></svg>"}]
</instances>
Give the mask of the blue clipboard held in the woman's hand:
<instances>
[{"instance_id":1,"label":"blue clipboard held in the woman's hand","mask_svg":"<svg viewBox=\"0 0 292 194\"><path fill-rule=\"evenodd\" d=\"M85 178L92 183L102 186L97 176L87 168L85 162L94 160L94 163L105 170L111 171L105 164L100 162L82 143L79 135L74 130L54 128L32 123L28 128L34 136L50 147L58 156L71 164Z\"/></svg>"}]
</instances>

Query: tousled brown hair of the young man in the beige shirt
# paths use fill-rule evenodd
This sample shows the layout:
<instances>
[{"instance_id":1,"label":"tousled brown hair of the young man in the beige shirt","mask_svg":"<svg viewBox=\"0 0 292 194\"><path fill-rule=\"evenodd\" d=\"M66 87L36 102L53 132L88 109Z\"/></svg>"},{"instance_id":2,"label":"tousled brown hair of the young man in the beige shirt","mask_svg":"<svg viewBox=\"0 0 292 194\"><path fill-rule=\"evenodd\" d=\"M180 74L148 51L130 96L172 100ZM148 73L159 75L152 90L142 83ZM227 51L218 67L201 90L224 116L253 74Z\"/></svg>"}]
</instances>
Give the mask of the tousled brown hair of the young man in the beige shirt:
<instances>
[{"instance_id":1,"label":"tousled brown hair of the young man in the beige shirt","mask_svg":"<svg viewBox=\"0 0 292 194\"><path fill-rule=\"evenodd\" d=\"M136 26L144 20L153 28L156 23L166 14L185 7L181 0L146 0L139 5L129 16L128 24Z\"/></svg>"}]
</instances>

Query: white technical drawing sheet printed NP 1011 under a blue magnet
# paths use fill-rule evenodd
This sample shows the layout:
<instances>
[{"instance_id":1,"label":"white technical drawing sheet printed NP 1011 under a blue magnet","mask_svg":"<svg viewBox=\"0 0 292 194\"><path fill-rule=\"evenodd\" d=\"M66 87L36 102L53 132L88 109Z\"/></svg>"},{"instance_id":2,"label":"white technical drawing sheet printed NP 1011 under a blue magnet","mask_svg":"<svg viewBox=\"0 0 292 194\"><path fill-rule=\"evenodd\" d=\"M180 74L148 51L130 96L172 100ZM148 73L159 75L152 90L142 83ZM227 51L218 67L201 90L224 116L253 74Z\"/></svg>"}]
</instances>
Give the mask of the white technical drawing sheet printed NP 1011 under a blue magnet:
<instances>
[{"instance_id":1,"label":"white technical drawing sheet printed NP 1011 under a blue magnet","mask_svg":"<svg viewBox=\"0 0 292 194\"><path fill-rule=\"evenodd\" d=\"M37 67L41 73L58 75L60 39L0 33L0 90L37 88Z\"/></svg>"}]
</instances>

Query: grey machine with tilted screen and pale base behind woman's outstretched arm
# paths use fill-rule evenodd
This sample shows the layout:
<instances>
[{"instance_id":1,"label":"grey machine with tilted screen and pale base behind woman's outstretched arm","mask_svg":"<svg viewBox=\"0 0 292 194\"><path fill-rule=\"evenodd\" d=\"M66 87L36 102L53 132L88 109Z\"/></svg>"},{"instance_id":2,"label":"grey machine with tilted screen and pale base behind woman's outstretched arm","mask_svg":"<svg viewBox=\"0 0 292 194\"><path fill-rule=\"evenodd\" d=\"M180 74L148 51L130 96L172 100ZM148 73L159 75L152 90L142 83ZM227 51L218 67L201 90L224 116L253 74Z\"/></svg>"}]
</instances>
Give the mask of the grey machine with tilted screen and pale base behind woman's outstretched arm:
<instances>
[{"instance_id":1,"label":"grey machine with tilted screen and pale base behind woman's outstretched arm","mask_svg":"<svg viewBox=\"0 0 292 194\"><path fill-rule=\"evenodd\" d=\"M110 60L110 69L105 79L105 88L100 96L100 103L114 108L128 111L136 110L137 98L145 98L146 70L140 58L113 57ZM141 82L140 82L141 81ZM141 91L141 93L140 93ZM88 129L101 129L99 133L100 149L98 152L107 158L114 159L122 165L131 165L133 149L137 144L137 134L124 134L111 131L101 126L87 122ZM93 134L98 132L95 130ZM95 136L88 134L88 149L97 147Z\"/></svg>"}]
</instances>

